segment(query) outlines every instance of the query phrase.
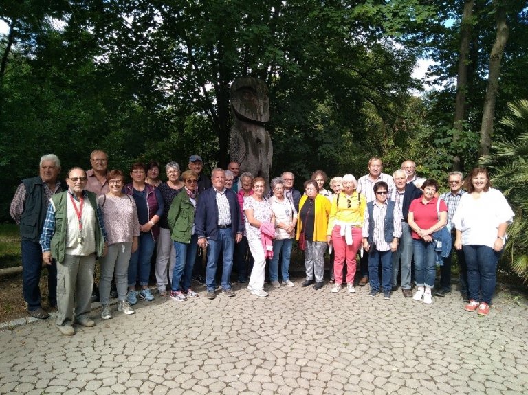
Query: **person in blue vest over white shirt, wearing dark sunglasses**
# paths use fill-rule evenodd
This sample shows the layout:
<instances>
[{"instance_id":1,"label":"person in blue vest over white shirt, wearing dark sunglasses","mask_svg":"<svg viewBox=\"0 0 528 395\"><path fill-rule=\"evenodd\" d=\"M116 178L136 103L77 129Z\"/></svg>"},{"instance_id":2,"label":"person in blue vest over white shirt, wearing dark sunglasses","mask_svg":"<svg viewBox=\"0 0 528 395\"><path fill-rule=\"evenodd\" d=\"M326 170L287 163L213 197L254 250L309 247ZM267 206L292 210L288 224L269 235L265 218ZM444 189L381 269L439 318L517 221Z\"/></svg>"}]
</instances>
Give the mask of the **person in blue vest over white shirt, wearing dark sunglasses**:
<instances>
[{"instance_id":1,"label":"person in blue vest over white shirt, wearing dark sunglasses","mask_svg":"<svg viewBox=\"0 0 528 395\"><path fill-rule=\"evenodd\" d=\"M363 249L369 253L370 296L380 289L378 267L382 264L382 287L385 299L391 298L393 261L392 253L398 248L401 237L401 211L393 201L388 201L388 184L377 181L373 187L375 201L366 203L363 222Z\"/></svg>"}]
</instances>

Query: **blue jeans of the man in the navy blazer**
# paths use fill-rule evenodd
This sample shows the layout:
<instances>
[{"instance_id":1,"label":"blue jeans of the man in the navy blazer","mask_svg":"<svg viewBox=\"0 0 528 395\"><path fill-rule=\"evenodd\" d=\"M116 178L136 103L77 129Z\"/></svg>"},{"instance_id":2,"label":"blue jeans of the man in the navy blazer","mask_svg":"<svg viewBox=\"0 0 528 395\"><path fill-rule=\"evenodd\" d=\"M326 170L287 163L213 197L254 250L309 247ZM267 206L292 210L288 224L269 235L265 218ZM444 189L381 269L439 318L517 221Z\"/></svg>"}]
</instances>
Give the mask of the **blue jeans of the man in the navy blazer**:
<instances>
[{"instance_id":1,"label":"blue jeans of the man in the navy blazer","mask_svg":"<svg viewBox=\"0 0 528 395\"><path fill-rule=\"evenodd\" d=\"M207 238L207 268L206 268L206 286L208 291L217 289L217 280L215 275L217 273L217 262L222 251L223 257L223 271L221 286L223 289L231 289L231 271L233 269L233 251L234 238L232 229L217 229L217 240Z\"/></svg>"}]
</instances>

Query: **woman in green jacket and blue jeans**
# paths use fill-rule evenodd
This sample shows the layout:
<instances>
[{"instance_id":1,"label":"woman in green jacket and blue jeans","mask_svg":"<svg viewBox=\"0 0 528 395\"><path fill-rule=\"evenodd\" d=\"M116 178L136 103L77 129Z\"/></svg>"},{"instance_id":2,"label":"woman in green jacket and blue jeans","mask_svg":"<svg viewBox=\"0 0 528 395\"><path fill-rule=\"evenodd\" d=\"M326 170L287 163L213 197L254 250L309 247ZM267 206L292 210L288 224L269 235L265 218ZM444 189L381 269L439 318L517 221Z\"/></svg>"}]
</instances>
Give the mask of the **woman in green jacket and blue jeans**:
<instances>
[{"instance_id":1,"label":"woman in green jacket and blue jeans","mask_svg":"<svg viewBox=\"0 0 528 395\"><path fill-rule=\"evenodd\" d=\"M185 188L173 200L168 210L170 237L174 240L176 262L174 264L172 291L170 297L183 302L198 294L190 289L192 267L195 264L198 237L195 235L195 207L198 179L187 170L181 174Z\"/></svg>"}]
</instances>

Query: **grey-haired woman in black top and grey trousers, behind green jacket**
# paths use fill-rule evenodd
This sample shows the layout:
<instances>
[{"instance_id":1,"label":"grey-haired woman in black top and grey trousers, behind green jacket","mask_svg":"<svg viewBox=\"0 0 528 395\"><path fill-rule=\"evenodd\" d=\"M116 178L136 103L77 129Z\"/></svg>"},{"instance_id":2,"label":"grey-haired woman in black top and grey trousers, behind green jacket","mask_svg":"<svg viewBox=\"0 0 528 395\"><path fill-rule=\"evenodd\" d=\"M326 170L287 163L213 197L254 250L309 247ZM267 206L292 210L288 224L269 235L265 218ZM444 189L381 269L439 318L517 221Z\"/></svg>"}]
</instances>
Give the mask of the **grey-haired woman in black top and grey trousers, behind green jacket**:
<instances>
[{"instance_id":1,"label":"grey-haired woman in black top and grey trousers, behind green jacket","mask_svg":"<svg viewBox=\"0 0 528 395\"><path fill-rule=\"evenodd\" d=\"M170 239L168 229L167 214L173 199L184 190L184 181L179 179L181 170L179 164L170 161L165 166L167 182L159 185L159 192L162 194L165 210L162 218L159 219L159 237L156 242L156 284L157 292L161 296L167 295L167 278L172 282L175 251L173 240ZM168 269L168 270L167 270Z\"/></svg>"}]
</instances>

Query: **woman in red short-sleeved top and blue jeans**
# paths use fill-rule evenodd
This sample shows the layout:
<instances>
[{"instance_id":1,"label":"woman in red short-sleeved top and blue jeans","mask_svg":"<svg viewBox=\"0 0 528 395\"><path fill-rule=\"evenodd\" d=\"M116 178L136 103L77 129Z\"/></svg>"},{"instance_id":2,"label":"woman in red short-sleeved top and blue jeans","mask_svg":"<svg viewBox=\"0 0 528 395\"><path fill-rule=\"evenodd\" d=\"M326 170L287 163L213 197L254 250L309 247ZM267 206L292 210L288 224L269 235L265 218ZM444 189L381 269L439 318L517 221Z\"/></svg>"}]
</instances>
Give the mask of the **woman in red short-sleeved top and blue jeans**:
<instances>
[{"instance_id":1,"label":"woman in red short-sleeved top and blue jeans","mask_svg":"<svg viewBox=\"0 0 528 395\"><path fill-rule=\"evenodd\" d=\"M448 221L448 206L434 195L438 192L439 185L432 179L426 180L422 185L423 196L410 203L407 222L412 229L412 245L415 257L415 278L418 290L412 297L423 303L431 304L431 289L434 287L434 278L437 270L435 262L437 253L434 251L432 234L442 229Z\"/></svg>"}]
</instances>

